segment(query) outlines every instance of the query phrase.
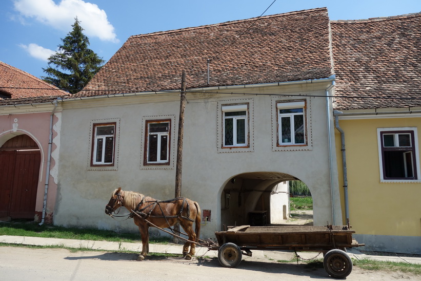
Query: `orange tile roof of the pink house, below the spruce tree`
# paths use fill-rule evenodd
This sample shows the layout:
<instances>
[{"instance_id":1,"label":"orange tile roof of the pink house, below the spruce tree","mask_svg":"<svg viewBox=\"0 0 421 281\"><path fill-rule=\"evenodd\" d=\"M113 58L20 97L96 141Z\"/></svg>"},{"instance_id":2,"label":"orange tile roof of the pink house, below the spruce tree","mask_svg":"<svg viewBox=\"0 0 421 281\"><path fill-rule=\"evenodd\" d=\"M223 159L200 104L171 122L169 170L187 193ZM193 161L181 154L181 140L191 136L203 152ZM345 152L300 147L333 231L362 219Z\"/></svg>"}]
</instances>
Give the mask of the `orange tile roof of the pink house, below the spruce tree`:
<instances>
[{"instance_id":1,"label":"orange tile roof of the pink house, below the spruce tree","mask_svg":"<svg viewBox=\"0 0 421 281\"><path fill-rule=\"evenodd\" d=\"M0 61L0 100L65 95L68 93Z\"/></svg>"}]
</instances>

